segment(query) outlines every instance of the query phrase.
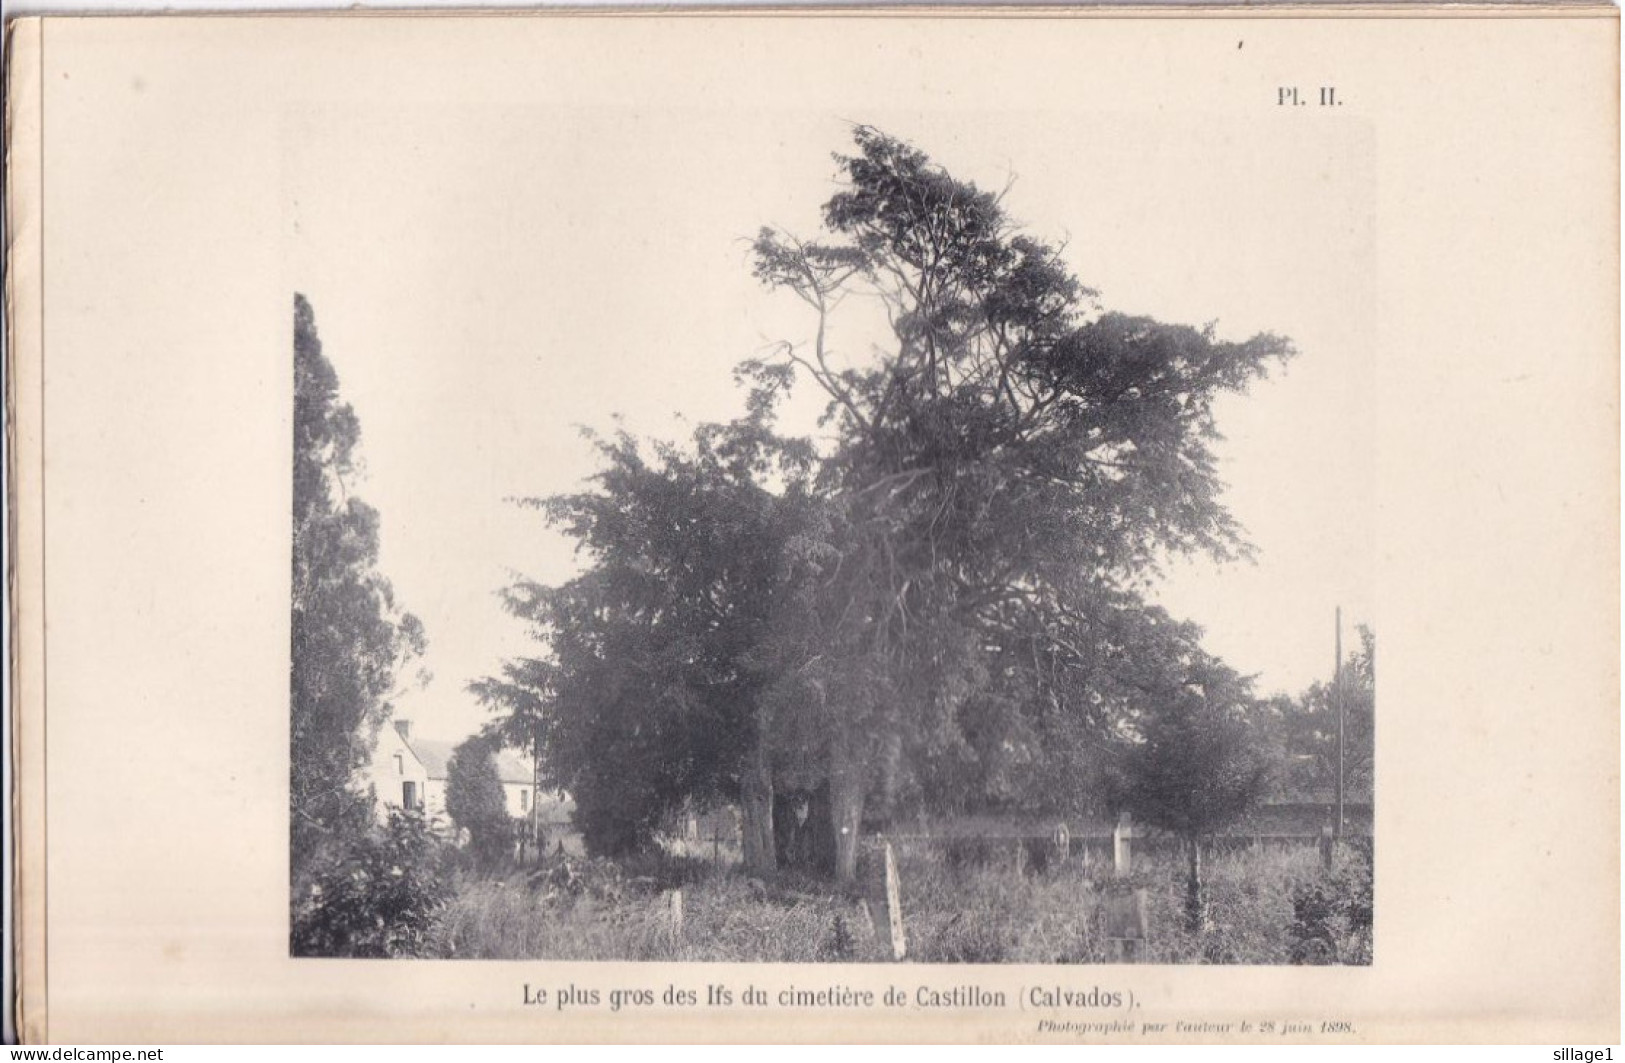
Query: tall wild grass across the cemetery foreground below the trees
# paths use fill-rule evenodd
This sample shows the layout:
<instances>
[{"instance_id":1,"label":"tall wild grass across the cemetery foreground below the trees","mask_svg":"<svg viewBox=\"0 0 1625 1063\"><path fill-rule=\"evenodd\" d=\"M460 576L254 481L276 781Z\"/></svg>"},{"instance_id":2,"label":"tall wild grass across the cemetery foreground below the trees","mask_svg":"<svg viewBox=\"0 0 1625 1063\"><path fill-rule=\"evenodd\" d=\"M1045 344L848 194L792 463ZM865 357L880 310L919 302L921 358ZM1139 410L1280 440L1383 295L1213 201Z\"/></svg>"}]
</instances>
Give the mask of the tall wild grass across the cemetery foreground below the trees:
<instances>
[{"instance_id":1,"label":"tall wild grass across the cemetery foreground below the trees","mask_svg":"<svg viewBox=\"0 0 1625 1063\"><path fill-rule=\"evenodd\" d=\"M1043 866L998 845L946 852L897 847L908 959L939 964L1107 964L1121 951L1103 936L1105 899L1146 889L1150 936L1139 962L1289 964L1303 957L1305 918L1341 962L1370 962L1370 926L1349 897L1370 897L1370 861L1342 848L1332 873L1313 848L1216 852L1206 860L1211 925L1185 926L1185 866L1173 853L1138 853L1133 876L1095 861ZM1038 865L1038 866L1034 866ZM505 878L465 874L431 943L440 956L488 959L626 959L705 962L889 961L879 865L860 863L860 886L785 876L748 879L696 860L621 868L567 861ZM682 926L671 889L682 889ZM1308 897L1310 900L1303 900ZM863 907L866 900L866 910ZM1297 904L1295 904L1297 900ZM1316 907L1320 905L1320 907ZM1365 909L1368 918L1368 907ZM1308 913L1308 915L1305 915Z\"/></svg>"}]
</instances>

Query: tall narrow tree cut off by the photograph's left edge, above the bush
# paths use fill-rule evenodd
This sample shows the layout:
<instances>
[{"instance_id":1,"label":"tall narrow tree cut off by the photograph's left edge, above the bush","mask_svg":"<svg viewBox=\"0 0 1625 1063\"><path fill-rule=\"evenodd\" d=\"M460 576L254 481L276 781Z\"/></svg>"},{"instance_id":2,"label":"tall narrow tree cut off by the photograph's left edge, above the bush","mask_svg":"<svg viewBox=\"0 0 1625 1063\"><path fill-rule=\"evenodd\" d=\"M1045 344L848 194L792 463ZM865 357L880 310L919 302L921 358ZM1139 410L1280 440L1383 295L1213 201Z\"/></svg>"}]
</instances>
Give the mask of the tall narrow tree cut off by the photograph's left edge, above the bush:
<instances>
[{"instance_id":1,"label":"tall narrow tree cut off by the photograph's left edge, above the bush","mask_svg":"<svg viewBox=\"0 0 1625 1063\"><path fill-rule=\"evenodd\" d=\"M379 572L379 514L353 494L361 424L340 398L315 315L294 296L292 658L289 831L294 894L323 848L374 822L359 787L422 626ZM332 853L330 853L332 855Z\"/></svg>"}]
</instances>

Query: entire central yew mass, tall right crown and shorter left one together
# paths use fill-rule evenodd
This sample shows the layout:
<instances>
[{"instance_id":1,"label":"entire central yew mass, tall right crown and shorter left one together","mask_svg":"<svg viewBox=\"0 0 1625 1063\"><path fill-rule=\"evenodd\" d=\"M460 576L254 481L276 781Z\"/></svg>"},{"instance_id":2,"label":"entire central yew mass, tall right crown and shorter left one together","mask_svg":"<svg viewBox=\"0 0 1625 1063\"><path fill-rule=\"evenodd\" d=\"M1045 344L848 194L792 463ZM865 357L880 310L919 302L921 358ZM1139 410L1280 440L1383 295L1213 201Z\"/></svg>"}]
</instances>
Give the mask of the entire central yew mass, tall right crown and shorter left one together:
<instances>
[{"instance_id":1,"label":"entire central yew mass, tall right crown and shorter left one together","mask_svg":"<svg viewBox=\"0 0 1625 1063\"><path fill-rule=\"evenodd\" d=\"M751 416L702 429L697 458L606 445L596 491L546 504L587 572L510 603L580 678L546 753L578 801L642 790L647 834L653 809L738 796L765 870L775 790L817 788L850 879L866 809L1032 801L1128 733L1162 644L1146 579L1170 551L1245 549L1214 400L1292 348L1102 310L1001 193L874 128L837 164L819 234L754 242L809 340L744 364ZM842 359L842 315L874 304L889 340ZM827 398L816 450L772 431L798 377Z\"/></svg>"}]
</instances>

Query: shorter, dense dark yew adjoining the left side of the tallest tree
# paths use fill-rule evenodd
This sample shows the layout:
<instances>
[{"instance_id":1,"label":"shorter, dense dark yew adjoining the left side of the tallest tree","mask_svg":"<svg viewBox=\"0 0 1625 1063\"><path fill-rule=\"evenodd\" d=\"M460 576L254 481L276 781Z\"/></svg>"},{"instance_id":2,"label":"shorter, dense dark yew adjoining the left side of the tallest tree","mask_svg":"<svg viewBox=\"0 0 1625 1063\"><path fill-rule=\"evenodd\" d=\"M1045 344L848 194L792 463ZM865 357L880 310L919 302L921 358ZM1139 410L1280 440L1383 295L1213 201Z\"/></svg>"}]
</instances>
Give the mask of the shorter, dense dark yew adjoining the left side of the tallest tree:
<instances>
[{"instance_id":1,"label":"shorter, dense dark yew adjoining the left side of the tallest tree","mask_svg":"<svg viewBox=\"0 0 1625 1063\"><path fill-rule=\"evenodd\" d=\"M774 392L686 447L598 439L592 489L526 502L578 541L585 572L509 588L551 657L473 689L502 714L492 733L538 749L572 793L595 852L645 847L682 805L770 798L765 647L795 587L788 543L814 507L811 452L770 431ZM746 827L749 861L770 865L770 824Z\"/></svg>"}]
</instances>

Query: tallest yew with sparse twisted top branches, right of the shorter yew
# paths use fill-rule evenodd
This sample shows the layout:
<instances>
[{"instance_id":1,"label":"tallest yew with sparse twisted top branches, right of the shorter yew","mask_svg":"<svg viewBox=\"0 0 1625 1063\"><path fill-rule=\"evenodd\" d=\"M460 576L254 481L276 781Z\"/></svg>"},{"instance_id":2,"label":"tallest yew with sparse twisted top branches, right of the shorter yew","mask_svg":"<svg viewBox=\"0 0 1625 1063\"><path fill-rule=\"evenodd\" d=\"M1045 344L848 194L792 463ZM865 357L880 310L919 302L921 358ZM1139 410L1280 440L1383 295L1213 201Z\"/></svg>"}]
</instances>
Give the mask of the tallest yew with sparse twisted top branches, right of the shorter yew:
<instances>
[{"instance_id":1,"label":"tallest yew with sparse twisted top branches, right of the shorter yew","mask_svg":"<svg viewBox=\"0 0 1625 1063\"><path fill-rule=\"evenodd\" d=\"M1072 673L1029 704L1112 673L1134 645L1105 631L1110 614L1136 608L1162 556L1243 548L1219 497L1212 405L1292 353L1274 335L1230 343L1103 312L999 193L874 128L855 141L824 232L756 244L757 275L816 319L782 358L827 393L840 429L819 478L838 561L808 645L830 649L816 699L840 878L876 775L902 762L889 751L1017 730L967 710L986 709L1011 668ZM855 293L886 307L892 343L837 364L827 336Z\"/></svg>"}]
</instances>

